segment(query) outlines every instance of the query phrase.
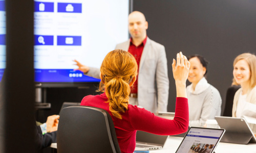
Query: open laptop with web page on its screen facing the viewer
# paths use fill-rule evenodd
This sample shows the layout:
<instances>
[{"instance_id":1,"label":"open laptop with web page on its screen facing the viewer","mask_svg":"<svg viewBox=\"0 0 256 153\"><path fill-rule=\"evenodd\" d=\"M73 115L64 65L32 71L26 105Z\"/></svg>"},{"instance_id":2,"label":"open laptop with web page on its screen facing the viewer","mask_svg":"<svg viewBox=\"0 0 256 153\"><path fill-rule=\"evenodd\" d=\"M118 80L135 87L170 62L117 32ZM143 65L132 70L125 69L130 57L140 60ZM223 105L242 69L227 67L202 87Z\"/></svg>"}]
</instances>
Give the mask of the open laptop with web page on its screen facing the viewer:
<instances>
[{"instance_id":1,"label":"open laptop with web page on its screen facing the viewer","mask_svg":"<svg viewBox=\"0 0 256 153\"><path fill-rule=\"evenodd\" d=\"M211 129L204 127L190 127L183 138L176 153L184 152L214 152L225 129Z\"/></svg>"}]
</instances>

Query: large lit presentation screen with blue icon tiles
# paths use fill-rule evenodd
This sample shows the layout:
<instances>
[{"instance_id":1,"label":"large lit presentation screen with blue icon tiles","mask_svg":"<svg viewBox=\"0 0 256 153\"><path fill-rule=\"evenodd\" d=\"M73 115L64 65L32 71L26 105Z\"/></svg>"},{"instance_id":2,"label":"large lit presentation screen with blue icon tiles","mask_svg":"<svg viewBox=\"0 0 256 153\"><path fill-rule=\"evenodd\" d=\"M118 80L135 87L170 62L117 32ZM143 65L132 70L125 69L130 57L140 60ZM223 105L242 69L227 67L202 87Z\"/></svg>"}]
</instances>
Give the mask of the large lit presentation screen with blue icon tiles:
<instances>
[{"instance_id":1,"label":"large lit presentation screen with blue icon tiles","mask_svg":"<svg viewBox=\"0 0 256 153\"><path fill-rule=\"evenodd\" d=\"M129 0L34 1L35 82L41 87L99 82L73 60L99 68L129 38Z\"/></svg>"}]
</instances>

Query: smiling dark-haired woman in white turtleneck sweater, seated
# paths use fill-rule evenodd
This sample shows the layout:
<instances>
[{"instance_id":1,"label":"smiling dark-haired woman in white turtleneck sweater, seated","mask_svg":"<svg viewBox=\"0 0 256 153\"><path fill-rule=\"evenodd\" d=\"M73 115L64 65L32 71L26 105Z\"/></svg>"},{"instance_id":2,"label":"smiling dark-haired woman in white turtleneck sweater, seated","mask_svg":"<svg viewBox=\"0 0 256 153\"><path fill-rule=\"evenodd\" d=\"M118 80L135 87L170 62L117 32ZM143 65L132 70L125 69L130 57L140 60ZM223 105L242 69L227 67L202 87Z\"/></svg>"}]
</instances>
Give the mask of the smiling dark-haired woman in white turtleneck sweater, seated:
<instances>
[{"instance_id":1,"label":"smiling dark-haired woman in white turtleneck sweater, seated","mask_svg":"<svg viewBox=\"0 0 256 153\"><path fill-rule=\"evenodd\" d=\"M221 115L221 96L219 91L207 83L204 76L207 73L205 58L200 55L188 57L190 69L187 86L189 109L189 126L203 127L207 119L214 119Z\"/></svg>"}]
</instances>

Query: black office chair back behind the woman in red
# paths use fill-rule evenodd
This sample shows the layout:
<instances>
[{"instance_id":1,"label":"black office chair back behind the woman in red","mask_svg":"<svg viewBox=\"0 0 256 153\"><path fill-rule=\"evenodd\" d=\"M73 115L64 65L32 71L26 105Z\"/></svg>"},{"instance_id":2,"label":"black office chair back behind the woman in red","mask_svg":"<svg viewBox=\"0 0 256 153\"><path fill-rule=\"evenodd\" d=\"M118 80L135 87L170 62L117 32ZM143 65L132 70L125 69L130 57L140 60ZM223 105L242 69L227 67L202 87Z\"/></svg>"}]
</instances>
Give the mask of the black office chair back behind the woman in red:
<instances>
[{"instance_id":1,"label":"black office chair back behind the woman in red","mask_svg":"<svg viewBox=\"0 0 256 153\"><path fill-rule=\"evenodd\" d=\"M121 152L110 114L103 109L88 106L62 109L57 152Z\"/></svg>"}]
</instances>

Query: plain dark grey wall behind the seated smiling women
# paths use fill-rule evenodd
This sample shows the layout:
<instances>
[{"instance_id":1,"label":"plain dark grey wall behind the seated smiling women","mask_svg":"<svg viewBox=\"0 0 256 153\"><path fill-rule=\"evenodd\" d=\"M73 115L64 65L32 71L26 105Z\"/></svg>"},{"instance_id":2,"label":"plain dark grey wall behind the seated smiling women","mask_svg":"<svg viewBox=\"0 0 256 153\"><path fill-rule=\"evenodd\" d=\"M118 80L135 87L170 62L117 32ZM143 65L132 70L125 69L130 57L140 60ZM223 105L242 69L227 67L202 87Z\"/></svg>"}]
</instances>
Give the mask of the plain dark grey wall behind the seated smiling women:
<instances>
[{"instance_id":1,"label":"plain dark grey wall behind the seated smiling women","mask_svg":"<svg viewBox=\"0 0 256 153\"><path fill-rule=\"evenodd\" d=\"M253 0L134 0L144 13L147 35L165 46L170 80L168 111L175 111L176 88L172 59L200 54L209 62L208 82L225 103L232 80L232 62L239 54L256 52L256 1Z\"/></svg>"}]
</instances>

